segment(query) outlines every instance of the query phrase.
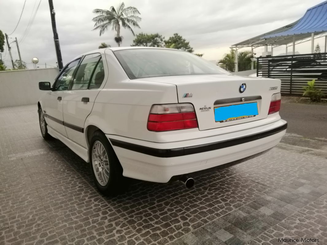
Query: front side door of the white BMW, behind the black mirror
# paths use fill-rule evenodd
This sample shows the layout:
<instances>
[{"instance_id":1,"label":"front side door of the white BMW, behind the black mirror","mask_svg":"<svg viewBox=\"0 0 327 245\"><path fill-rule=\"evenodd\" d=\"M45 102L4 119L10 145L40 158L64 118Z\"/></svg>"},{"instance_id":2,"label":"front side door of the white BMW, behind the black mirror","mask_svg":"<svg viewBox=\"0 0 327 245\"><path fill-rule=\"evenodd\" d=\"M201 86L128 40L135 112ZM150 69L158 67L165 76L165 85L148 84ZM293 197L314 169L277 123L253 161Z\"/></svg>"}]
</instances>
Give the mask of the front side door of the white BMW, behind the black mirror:
<instances>
[{"instance_id":1,"label":"front side door of the white BMW, behind the black mirror","mask_svg":"<svg viewBox=\"0 0 327 245\"><path fill-rule=\"evenodd\" d=\"M63 125L63 97L69 88L69 83L74 75L80 58L67 64L57 76L52 89L47 92L42 101L44 118L49 127L67 137Z\"/></svg>"}]
</instances>

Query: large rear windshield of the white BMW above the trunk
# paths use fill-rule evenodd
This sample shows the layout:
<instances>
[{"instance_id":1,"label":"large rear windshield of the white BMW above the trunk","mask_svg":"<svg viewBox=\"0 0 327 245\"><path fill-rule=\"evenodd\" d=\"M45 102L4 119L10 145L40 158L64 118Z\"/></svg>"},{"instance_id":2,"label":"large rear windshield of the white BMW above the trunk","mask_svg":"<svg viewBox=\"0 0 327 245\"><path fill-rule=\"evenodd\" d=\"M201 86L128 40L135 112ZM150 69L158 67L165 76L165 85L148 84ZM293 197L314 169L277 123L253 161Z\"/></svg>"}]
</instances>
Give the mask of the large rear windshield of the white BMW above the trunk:
<instances>
[{"instance_id":1,"label":"large rear windshield of the white BMW above the trunk","mask_svg":"<svg viewBox=\"0 0 327 245\"><path fill-rule=\"evenodd\" d=\"M130 79L202 74L230 74L203 58L169 49L125 49L114 52Z\"/></svg>"}]
</instances>

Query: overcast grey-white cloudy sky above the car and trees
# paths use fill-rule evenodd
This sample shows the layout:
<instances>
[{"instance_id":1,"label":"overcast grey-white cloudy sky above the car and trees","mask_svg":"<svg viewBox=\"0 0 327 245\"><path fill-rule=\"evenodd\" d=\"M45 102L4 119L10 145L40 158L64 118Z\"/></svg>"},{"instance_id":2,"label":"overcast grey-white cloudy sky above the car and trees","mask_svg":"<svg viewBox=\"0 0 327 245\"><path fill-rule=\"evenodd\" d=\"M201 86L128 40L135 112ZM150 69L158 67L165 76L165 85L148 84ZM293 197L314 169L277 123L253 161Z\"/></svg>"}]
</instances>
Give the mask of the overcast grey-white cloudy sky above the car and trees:
<instances>
[{"instance_id":1,"label":"overcast grey-white cloudy sky above the car and trees","mask_svg":"<svg viewBox=\"0 0 327 245\"><path fill-rule=\"evenodd\" d=\"M38 66L56 65L56 53L51 27L49 4L42 0L33 20L33 13L40 0L26 0L21 21L15 32L9 37L17 37L22 59L30 63L32 57L38 57ZM57 29L60 40L63 63L84 52L97 49L101 42L112 47L114 31L109 29L101 37L92 31L94 8L109 9L117 6L119 0L54 0ZM208 60L220 59L229 52L232 44L244 41L256 35L290 24L303 16L306 9L322 0L125 0L125 6L138 8L142 18L140 33L159 33L165 38L177 32L194 48L195 53L204 53ZM10 34L19 19L24 0L0 0L0 30ZM33 12L34 9L34 12ZM124 37L121 46L130 46L133 40L128 30L122 30ZM9 39L9 42L14 39ZM324 48L324 40L318 39ZM18 59L17 48L10 44L13 59ZM310 52L310 43L299 44L296 51ZM263 48L255 49L261 55ZM285 46L274 49L274 54L285 52ZM9 52L2 53L7 66L11 67ZM5 56L5 57L4 57ZM31 64L28 65L32 67Z\"/></svg>"}]
</instances>

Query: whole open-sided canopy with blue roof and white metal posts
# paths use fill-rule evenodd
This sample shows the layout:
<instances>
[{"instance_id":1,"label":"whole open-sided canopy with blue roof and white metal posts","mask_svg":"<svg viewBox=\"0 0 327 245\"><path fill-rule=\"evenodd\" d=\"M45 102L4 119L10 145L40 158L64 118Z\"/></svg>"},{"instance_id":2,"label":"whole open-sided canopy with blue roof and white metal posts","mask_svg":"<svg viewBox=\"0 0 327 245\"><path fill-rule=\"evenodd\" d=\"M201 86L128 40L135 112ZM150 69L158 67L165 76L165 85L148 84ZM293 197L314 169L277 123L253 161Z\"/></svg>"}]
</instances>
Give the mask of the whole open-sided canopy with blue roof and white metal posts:
<instances>
[{"instance_id":1,"label":"whole open-sided canopy with blue roof and white metal posts","mask_svg":"<svg viewBox=\"0 0 327 245\"><path fill-rule=\"evenodd\" d=\"M287 48L293 47L293 55L295 54L295 45L306 41L311 41L311 53L314 52L314 40L325 37L325 53L327 46L327 1L324 1L314 7L309 8L303 17L291 24L280 27L276 30L269 31L262 35L250 38L248 40L232 45L235 50L235 72L238 71L237 50L244 47L265 46L267 52L268 46L271 51L274 47L285 45Z\"/></svg>"}]
</instances>

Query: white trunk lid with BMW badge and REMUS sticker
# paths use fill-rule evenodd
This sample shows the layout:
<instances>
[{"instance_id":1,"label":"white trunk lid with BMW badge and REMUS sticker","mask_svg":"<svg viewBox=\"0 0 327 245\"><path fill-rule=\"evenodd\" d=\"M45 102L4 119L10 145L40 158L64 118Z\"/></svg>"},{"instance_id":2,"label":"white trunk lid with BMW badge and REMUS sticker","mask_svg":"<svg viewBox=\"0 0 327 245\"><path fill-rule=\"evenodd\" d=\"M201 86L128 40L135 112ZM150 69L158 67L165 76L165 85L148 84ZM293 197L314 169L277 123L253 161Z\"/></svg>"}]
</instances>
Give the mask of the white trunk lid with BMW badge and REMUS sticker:
<instances>
[{"instance_id":1,"label":"white trunk lid with BMW badge and REMUS sticker","mask_svg":"<svg viewBox=\"0 0 327 245\"><path fill-rule=\"evenodd\" d=\"M271 95L280 92L281 84L278 79L235 75L163 76L139 80L176 85L178 102L192 103L194 105L199 130L231 126L267 118ZM246 89L241 93L240 86L244 83ZM216 122L215 120L215 108L217 107L255 102L257 103L258 115L225 122ZM238 111L243 110L242 108L238 108ZM221 110L216 110L216 113L221 113Z\"/></svg>"}]
</instances>

